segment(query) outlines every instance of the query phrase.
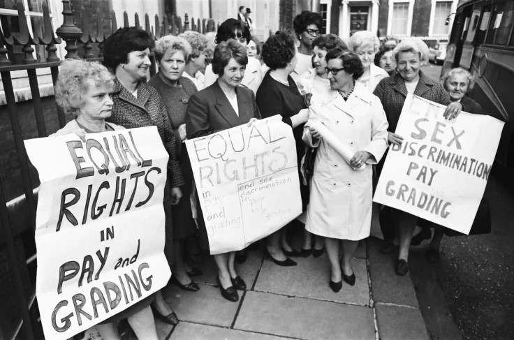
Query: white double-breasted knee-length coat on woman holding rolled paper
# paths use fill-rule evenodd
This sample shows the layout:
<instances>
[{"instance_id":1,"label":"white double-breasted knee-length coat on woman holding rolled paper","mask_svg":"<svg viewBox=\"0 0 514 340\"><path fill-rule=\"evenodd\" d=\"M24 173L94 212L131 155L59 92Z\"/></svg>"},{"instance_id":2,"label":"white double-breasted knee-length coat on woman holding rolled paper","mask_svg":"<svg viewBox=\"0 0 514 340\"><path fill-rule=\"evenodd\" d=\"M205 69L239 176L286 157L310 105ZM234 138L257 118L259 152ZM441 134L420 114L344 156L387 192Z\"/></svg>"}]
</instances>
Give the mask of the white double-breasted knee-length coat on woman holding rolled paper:
<instances>
[{"instance_id":1,"label":"white double-breasted knee-length coat on woman holding rolled paper","mask_svg":"<svg viewBox=\"0 0 514 340\"><path fill-rule=\"evenodd\" d=\"M362 171L353 170L323 139L313 143L309 121L318 119L353 151L372 156ZM344 101L337 91L312 96L303 140L318 147L305 228L316 235L359 240L369 236L372 221L372 164L387 149L388 121L378 97L356 83Z\"/></svg>"}]
</instances>

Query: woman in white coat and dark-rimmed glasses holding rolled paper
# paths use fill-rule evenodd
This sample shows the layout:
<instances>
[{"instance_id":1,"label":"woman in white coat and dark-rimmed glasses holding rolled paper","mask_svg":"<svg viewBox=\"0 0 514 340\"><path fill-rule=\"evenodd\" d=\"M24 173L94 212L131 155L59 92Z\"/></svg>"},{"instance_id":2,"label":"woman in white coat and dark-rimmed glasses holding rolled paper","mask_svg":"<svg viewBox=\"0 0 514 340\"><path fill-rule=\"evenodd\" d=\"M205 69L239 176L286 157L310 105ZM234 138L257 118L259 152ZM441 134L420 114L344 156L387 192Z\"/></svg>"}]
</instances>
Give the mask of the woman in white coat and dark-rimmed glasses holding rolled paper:
<instances>
[{"instance_id":1,"label":"woman in white coat and dark-rimmed glasses holding rolled paper","mask_svg":"<svg viewBox=\"0 0 514 340\"><path fill-rule=\"evenodd\" d=\"M358 55L336 48L325 58L332 91L324 96L312 96L303 134L309 147L318 147L305 228L326 237L332 268L329 286L338 292L342 279L351 286L355 284L351 258L358 241L369 236L373 173L370 165L380 161L386 151L388 121L379 98L355 82L364 73ZM320 122L339 145L355 152L351 159L345 161L325 142L318 131L321 128L316 129ZM362 165L367 166L353 170ZM342 264L339 263L340 240Z\"/></svg>"}]
</instances>

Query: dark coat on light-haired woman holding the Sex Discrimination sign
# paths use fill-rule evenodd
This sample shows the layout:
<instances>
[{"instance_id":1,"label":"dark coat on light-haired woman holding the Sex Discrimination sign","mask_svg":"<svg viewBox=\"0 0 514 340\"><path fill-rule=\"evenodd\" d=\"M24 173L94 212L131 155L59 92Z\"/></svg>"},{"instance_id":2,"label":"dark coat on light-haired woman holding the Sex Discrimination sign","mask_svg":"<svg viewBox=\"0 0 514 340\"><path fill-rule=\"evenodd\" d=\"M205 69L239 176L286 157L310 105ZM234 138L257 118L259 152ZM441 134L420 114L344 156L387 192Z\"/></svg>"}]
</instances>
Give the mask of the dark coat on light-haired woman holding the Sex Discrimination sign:
<instances>
[{"instance_id":1,"label":"dark coat on light-haired woman holding the Sex Discrimination sign","mask_svg":"<svg viewBox=\"0 0 514 340\"><path fill-rule=\"evenodd\" d=\"M407 96L404 78L398 73L384 78L376 86L373 94L379 97L383 110L386 111L389 123L388 131L395 132ZM420 71L420 80L414 94L442 105L450 103L450 95L442 85L424 75L422 71Z\"/></svg>"}]
</instances>

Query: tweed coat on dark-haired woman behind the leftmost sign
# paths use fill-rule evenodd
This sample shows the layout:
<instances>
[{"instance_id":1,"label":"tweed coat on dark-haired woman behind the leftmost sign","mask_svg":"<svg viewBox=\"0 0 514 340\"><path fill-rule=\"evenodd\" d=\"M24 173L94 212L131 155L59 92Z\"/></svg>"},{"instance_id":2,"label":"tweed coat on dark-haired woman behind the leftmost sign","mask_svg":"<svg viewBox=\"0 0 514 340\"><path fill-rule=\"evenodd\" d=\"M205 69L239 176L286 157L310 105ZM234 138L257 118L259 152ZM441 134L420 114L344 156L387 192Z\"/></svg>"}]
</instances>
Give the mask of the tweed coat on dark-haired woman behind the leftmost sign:
<instances>
[{"instance_id":1,"label":"tweed coat on dark-haired woman behind the leftmost sign","mask_svg":"<svg viewBox=\"0 0 514 340\"><path fill-rule=\"evenodd\" d=\"M170 185L175 188L184 184L184 177L177 158L177 144L168 112L161 96L154 87L145 82L138 83L138 98L127 90L117 78L111 93L112 114L106 119L124 128L157 126L159 135L170 158L168 159L168 179L164 189L164 212L166 214L166 242L164 254L168 263L173 262L173 232L171 220ZM142 226L144 228L144 226Z\"/></svg>"}]
</instances>

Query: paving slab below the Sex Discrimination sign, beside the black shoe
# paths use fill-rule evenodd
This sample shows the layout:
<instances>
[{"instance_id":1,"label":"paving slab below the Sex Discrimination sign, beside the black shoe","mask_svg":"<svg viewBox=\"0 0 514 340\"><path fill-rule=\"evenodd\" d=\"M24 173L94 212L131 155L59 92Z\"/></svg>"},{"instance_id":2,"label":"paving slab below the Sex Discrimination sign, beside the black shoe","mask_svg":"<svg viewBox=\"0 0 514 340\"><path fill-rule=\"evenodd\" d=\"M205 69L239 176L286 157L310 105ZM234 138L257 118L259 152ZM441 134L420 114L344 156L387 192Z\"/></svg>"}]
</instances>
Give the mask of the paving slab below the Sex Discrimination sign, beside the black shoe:
<instances>
[{"instance_id":1,"label":"paving slab below the Sex Discrimination sign, beside the black shoe","mask_svg":"<svg viewBox=\"0 0 514 340\"><path fill-rule=\"evenodd\" d=\"M418 298L411 281L410 274L395 274L396 254L381 254L379 249L382 240L369 237L367 255L369 274L372 281L372 297L374 302L400 304L418 307Z\"/></svg>"}]
</instances>

